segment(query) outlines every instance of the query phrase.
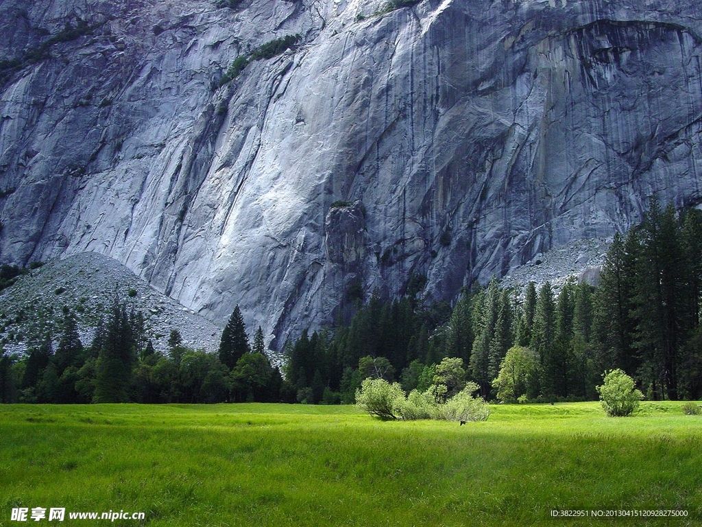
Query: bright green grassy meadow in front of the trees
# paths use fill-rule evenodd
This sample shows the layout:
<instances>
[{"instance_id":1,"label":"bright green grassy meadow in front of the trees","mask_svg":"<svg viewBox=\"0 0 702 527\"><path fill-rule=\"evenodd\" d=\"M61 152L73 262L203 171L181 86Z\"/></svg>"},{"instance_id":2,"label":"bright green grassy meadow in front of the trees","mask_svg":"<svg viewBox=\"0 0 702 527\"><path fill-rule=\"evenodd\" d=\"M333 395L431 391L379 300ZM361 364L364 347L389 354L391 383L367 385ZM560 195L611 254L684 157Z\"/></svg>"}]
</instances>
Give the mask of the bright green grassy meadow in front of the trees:
<instances>
[{"instance_id":1,"label":"bright green grassy meadow in front of the trees","mask_svg":"<svg viewBox=\"0 0 702 527\"><path fill-rule=\"evenodd\" d=\"M702 525L702 416L681 405L495 405L463 427L350 406L1 405L0 525L27 524L16 507L65 507L70 525ZM68 517L110 510L145 520Z\"/></svg>"}]
</instances>

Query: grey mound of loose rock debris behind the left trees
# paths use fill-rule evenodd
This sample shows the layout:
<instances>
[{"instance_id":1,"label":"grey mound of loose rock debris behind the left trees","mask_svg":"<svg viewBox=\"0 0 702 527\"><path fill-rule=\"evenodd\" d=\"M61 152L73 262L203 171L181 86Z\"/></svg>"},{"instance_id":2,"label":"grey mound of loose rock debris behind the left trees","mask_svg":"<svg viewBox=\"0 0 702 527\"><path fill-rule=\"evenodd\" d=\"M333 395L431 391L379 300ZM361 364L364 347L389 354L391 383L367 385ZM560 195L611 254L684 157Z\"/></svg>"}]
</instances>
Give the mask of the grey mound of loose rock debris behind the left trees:
<instances>
[{"instance_id":1,"label":"grey mound of loose rock debris behind the left trees","mask_svg":"<svg viewBox=\"0 0 702 527\"><path fill-rule=\"evenodd\" d=\"M157 351L167 353L171 330L180 332L185 346L217 350L220 326L157 292L118 261L95 253L49 261L0 293L2 348L23 353L30 338L47 332L56 344L64 306L76 315L81 341L88 346L115 297L129 311L143 313L147 338Z\"/></svg>"}]
</instances>

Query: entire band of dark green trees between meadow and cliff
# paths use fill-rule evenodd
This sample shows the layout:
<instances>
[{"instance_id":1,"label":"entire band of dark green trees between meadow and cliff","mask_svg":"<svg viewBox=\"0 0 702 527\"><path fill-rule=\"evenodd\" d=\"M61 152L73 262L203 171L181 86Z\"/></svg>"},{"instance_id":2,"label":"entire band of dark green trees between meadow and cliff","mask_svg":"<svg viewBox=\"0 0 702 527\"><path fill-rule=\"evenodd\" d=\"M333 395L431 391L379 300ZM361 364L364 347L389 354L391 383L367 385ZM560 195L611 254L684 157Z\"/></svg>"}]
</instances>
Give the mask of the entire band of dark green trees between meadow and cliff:
<instances>
[{"instance_id":1,"label":"entire band of dark green trees between meadow and cliff","mask_svg":"<svg viewBox=\"0 0 702 527\"><path fill-rule=\"evenodd\" d=\"M654 199L640 226L615 235L599 287L570 280L524 291L465 291L453 308L420 299L422 276L404 297L379 294L347 324L303 334L271 365L260 328L251 344L239 308L218 353L187 349L177 330L154 351L140 313L114 299L89 346L64 312L51 336L23 356L0 359L2 402L353 403L368 377L425 391L444 358L460 358L486 400L598 398L604 372L621 368L650 399L702 397L702 212Z\"/></svg>"}]
</instances>

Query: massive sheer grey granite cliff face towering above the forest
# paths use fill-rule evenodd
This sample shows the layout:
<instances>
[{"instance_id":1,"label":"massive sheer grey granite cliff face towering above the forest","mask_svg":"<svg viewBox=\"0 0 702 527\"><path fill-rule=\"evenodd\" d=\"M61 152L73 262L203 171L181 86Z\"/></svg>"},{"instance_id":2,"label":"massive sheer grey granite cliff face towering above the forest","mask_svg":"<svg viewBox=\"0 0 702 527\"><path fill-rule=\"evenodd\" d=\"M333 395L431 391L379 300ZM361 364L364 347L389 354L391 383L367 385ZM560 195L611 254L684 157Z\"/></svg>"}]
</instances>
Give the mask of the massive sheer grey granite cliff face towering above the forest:
<instances>
[{"instance_id":1,"label":"massive sheer grey granite cliff face towering above the forest","mask_svg":"<svg viewBox=\"0 0 702 527\"><path fill-rule=\"evenodd\" d=\"M105 254L279 348L359 290L451 299L702 201L702 1L383 11L1 3L1 261Z\"/></svg>"}]
</instances>

